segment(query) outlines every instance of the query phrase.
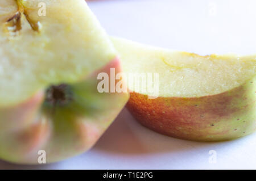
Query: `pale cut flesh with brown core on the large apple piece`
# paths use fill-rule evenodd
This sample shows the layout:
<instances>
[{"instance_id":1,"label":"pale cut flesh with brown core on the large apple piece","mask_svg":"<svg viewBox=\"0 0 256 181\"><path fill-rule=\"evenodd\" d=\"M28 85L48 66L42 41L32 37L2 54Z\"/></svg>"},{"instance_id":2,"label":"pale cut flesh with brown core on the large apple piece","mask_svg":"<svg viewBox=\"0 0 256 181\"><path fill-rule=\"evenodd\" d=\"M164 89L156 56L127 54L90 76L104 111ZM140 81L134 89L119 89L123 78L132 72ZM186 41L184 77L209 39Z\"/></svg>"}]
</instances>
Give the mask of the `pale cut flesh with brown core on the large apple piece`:
<instances>
[{"instance_id":1,"label":"pale cut flesh with brown core on the large apple piece","mask_svg":"<svg viewBox=\"0 0 256 181\"><path fill-rule=\"evenodd\" d=\"M115 58L82 0L6 0L0 7L0 106L26 100L49 82L75 82Z\"/></svg>"}]
</instances>

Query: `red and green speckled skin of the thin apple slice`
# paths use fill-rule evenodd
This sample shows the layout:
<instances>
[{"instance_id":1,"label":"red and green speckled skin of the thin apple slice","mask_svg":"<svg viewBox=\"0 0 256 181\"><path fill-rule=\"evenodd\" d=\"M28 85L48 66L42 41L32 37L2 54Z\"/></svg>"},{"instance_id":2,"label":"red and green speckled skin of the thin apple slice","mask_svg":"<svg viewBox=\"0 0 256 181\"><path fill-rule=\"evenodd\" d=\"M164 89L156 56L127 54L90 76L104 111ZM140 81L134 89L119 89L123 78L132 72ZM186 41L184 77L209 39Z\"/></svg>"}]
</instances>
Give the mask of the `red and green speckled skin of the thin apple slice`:
<instances>
[{"instance_id":1,"label":"red and green speckled skin of the thin apple slice","mask_svg":"<svg viewBox=\"0 0 256 181\"><path fill-rule=\"evenodd\" d=\"M144 127L192 141L225 141L256 129L256 77L221 94L148 99L130 94L127 108Z\"/></svg>"}]
</instances>

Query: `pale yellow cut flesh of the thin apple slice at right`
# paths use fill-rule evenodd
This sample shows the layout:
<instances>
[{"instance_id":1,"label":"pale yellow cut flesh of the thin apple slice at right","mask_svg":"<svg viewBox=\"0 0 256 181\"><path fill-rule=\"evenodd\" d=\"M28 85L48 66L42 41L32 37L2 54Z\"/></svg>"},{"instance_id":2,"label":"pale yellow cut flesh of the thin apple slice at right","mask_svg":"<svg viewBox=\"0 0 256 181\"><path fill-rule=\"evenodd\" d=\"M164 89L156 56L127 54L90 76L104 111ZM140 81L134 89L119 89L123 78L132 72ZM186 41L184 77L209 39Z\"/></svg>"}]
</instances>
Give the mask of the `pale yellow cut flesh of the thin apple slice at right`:
<instances>
[{"instance_id":1,"label":"pale yellow cut flesh of the thin apple slice at right","mask_svg":"<svg viewBox=\"0 0 256 181\"><path fill-rule=\"evenodd\" d=\"M112 40L123 60L123 71L159 73L159 96L163 97L220 94L240 86L256 72L256 54L199 56L150 47L116 37Z\"/></svg>"}]
</instances>

